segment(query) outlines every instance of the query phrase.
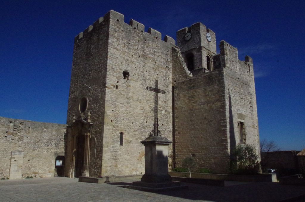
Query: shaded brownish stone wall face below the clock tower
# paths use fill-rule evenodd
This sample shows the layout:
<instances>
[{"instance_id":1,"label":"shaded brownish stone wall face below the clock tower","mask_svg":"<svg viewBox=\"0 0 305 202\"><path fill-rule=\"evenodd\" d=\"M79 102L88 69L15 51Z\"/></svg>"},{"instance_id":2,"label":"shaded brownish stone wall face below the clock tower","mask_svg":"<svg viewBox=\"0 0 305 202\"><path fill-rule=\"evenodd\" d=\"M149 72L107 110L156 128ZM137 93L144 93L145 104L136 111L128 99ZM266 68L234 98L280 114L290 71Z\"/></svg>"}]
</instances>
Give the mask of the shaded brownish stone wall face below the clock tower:
<instances>
[{"instance_id":1,"label":"shaded brownish stone wall face below the clock tower","mask_svg":"<svg viewBox=\"0 0 305 202\"><path fill-rule=\"evenodd\" d=\"M194 157L197 166L228 172L223 69L174 83L175 166Z\"/></svg>"}]
</instances>

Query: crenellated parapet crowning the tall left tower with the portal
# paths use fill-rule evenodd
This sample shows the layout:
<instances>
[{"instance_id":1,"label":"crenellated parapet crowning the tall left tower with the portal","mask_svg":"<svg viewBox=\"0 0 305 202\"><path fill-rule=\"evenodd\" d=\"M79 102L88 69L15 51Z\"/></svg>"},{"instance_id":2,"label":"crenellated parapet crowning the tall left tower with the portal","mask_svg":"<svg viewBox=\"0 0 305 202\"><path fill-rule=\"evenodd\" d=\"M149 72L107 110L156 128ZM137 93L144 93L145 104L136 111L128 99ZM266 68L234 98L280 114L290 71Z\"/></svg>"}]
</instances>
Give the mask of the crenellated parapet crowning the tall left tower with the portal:
<instances>
[{"instance_id":1,"label":"crenellated parapet crowning the tall left tower with the portal","mask_svg":"<svg viewBox=\"0 0 305 202\"><path fill-rule=\"evenodd\" d=\"M77 36L74 38L74 43L77 43L79 41L81 41L83 38L85 38L87 35L91 34L95 29L98 29L98 27L101 26L101 24L103 24L105 26L106 23L109 22L118 22L118 23L124 23L125 25L129 25L132 27L131 30L134 31L139 31L142 32L143 34L150 34L151 37L157 39L157 40L162 40L162 34L155 30L152 29L151 27L148 28L147 32L145 32L145 26L142 23L139 23L138 21L131 19L129 20L129 23L125 23L124 22L124 15L121 13L118 13L114 10L110 10L109 12L107 12L103 17L100 17L98 20L96 20L92 25L90 25L89 27L87 27L84 31L82 31L81 33L77 34ZM102 26L103 26L102 25ZM165 35L164 42L170 43L171 45L175 45L176 42L173 38Z\"/></svg>"}]
</instances>

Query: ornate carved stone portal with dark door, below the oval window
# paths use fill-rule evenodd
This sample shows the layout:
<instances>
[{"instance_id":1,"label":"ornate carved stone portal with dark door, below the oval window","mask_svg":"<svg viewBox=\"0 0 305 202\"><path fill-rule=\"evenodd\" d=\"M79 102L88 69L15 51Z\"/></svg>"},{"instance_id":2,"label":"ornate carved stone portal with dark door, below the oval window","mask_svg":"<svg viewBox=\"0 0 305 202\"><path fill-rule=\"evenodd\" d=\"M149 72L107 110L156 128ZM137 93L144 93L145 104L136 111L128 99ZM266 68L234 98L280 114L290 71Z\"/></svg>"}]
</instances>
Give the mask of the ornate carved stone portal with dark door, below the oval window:
<instances>
[{"instance_id":1,"label":"ornate carved stone portal with dark door, below the oval window","mask_svg":"<svg viewBox=\"0 0 305 202\"><path fill-rule=\"evenodd\" d=\"M71 165L70 177L89 176L90 138L92 123L76 120L71 126Z\"/></svg>"}]
</instances>

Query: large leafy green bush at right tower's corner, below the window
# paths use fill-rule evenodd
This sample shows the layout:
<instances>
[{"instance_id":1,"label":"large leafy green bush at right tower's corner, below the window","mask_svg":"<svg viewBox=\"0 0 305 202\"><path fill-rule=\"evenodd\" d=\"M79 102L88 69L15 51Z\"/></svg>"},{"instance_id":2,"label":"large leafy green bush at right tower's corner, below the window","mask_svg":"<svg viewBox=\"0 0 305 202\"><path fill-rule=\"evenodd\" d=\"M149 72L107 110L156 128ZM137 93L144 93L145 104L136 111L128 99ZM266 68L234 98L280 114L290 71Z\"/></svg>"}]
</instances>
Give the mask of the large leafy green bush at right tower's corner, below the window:
<instances>
[{"instance_id":1,"label":"large leafy green bush at right tower's corner, below the window","mask_svg":"<svg viewBox=\"0 0 305 202\"><path fill-rule=\"evenodd\" d=\"M232 150L230 170L235 175L255 175L260 172L259 157L252 145L237 145Z\"/></svg>"}]
</instances>

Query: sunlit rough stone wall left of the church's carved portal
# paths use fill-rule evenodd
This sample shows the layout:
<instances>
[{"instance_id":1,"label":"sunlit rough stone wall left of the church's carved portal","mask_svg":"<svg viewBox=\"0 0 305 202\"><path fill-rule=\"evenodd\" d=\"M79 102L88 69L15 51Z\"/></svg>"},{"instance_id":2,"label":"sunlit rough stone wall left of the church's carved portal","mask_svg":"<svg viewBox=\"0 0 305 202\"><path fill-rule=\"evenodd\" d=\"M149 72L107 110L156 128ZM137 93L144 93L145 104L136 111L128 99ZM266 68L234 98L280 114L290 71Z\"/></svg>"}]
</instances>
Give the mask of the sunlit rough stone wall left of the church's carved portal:
<instances>
[{"instance_id":1,"label":"sunlit rough stone wall left of the church's carved portal","mask_svg":"<svg viewBox=\"0 0 305 202\"><path fill-rule=\"evenodd\" d=\"M54 176L66 125L0 117L0 177Z\"/></svg>"}]
</instances>

